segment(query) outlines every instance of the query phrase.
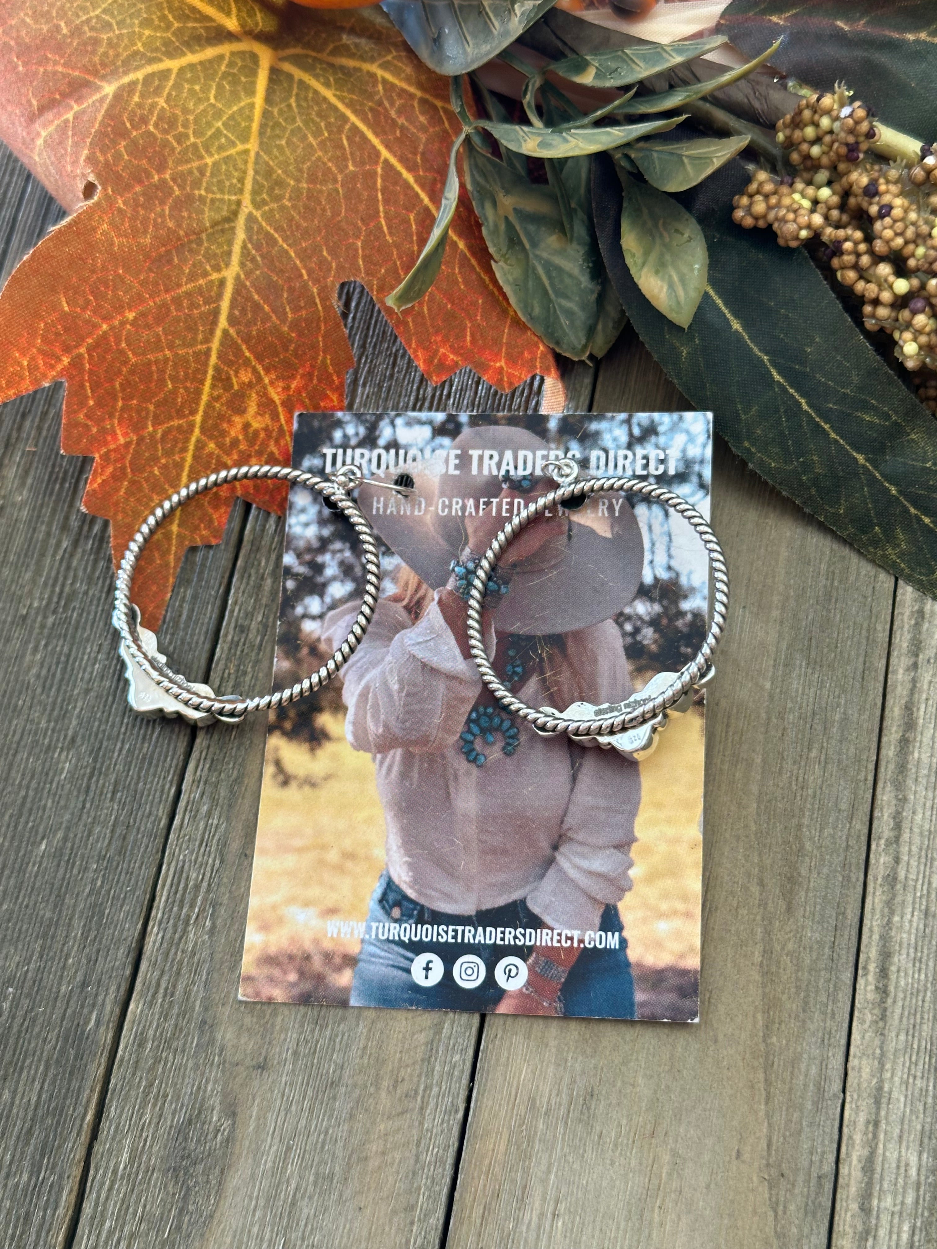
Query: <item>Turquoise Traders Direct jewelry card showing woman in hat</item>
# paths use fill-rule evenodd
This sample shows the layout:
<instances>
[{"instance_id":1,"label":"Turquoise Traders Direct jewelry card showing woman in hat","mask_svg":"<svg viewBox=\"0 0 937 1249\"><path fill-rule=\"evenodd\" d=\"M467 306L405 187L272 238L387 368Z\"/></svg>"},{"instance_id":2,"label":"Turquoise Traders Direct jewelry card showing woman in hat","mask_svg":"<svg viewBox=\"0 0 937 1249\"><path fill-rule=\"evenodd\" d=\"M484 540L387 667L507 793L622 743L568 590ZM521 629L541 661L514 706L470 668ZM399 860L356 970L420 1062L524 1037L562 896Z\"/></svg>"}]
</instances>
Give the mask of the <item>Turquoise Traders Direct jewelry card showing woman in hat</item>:
<instances>
[{"instance_id":1,"label":"Turquoise Traders Direct jewelry card showing woman in hat","mask_svg":"<svg viewBox=\"0 0 937 1249\"><path fill-rule=\"evenodd\" d=\"M707 412L296 418L294 466L364 473L384 581L340 677L271 714L244 999L697 1018L702 694L640 762L540 736L482 682L464 592L558 458L708 516L711 431ZM618 703L693 658L707 585L702 542L663 503L550 508L492 577L488 658L530 707ZM294 487L277 688L341 646L362 587L351 523Z\"/></svg>"}]
</instances>

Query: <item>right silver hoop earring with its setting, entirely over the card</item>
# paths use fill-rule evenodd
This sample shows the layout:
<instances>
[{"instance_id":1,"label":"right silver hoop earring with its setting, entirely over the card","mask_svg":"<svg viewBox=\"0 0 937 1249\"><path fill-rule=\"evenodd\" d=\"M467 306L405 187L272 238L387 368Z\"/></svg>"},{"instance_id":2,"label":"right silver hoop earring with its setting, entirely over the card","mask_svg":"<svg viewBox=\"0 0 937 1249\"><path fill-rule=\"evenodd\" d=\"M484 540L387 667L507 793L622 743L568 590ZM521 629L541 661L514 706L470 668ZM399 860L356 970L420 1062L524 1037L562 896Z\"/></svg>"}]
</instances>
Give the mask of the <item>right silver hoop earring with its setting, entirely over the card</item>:
<instances>
[{"instance_id":1,"label":"right silver hoop earring with its setting, entirely over the card","mask_svg":"<svg viewBox=\"0 0 937 1249\"><path fill-rule=\"evenodd\" d=\"M526 719L542 737L561 737L565 733L581 746L613 748L626 758L640 761L646 758L657 744L657 734L667 723L667 713L686 711L692 703L693 693L716 674L712 656L722 636L728 610L726 557L705 517L697 512L692 503L681 498L680 495L675 495L673 491L665 490L662 486L656 486L640 477L580 478L578 465L575 460L568 458L547 465L547 470L553 481L557 482L557 488L541 495L535 503L508 521L478 560L467 598L468 648L482 681L498 703L506 711ZM581 507L591 495L612 491L636 495L640 498L672 507L700 535L710 560L715 587L708 632L693 659L680 672L657 673L640 693L632 694L623 702L603 703L602 706L577 702L567 707L565 712L553 707L528 707L498 681L485 649L482 607L485 606L488 580L510 543L531 521L542 516L548 508L562 506L567 501L573 501L575 507Z\"/></svg>"}]
</instances>

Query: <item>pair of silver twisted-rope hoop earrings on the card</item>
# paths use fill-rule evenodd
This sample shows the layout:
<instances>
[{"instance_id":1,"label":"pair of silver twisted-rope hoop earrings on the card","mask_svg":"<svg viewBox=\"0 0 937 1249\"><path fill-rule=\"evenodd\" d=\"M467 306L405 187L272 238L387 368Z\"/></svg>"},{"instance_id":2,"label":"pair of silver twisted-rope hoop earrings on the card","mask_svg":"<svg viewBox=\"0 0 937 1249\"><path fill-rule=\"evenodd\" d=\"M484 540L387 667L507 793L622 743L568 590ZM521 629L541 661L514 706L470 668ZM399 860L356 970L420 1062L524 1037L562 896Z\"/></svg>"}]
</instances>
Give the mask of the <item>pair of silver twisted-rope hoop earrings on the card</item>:
<instances>
[{"instance_id":1,"label":"pair of silver twisted-rope hoop earrings on the card","mask_svg":"<svg viewBox=\"0 0 937 1249\"><path fill-rule=\"evenodd\" d=\"M547 471L556 481L556 488L541 495L533 503L510 520L491 542L476 565L473 581L467 596L468 648L482 681L497 702L522 719L543 737L571 737L581 746L613 748L632 759L645 758L657 743L657 733L666 726L668 712L686 711L693 694L713 676L712 656L722 636L728 608L728 570L722 547L705 517L680 495L638 477L580 477L575 460L563 458L547 463ZM351 629L317 672L289 689L242 698L239 694L216 696L206 684L186 681L166 664L160 653L155 633L140 626L139 611L130 598L134 571L144 547L159 526L184 503L217 486L240 481L285 481L306 486L322 496L327 507L341 512L352 525L361 543L365 566L365 590L361 607ZM337 676L367 632L374 618L381 587L380 550L365 513L352 497L362 483L360 468L346 466L329 477L275 465L246 465L211 473L191 482L171 495L156 507L134 535L117 570L114 627L120 633L120 654L126 668L129 702L142 716L182 716L194 724L214 721L240 723L249 713L284 707L321 689ZM409 495L410 486L401 483L371 482L371 485ZM702 646L680 672L661 672L638 693L620 703L573 703L560 712L552 707L530 707L502 684L491 666L483 641L482 610L488 581L498 561L517 535L548 508L577 501L586 502L591 495L621 492L650 502L663 503L682 516L700 536L710 561L713 582L712 618Z\"/></svg>"}]
</instances>

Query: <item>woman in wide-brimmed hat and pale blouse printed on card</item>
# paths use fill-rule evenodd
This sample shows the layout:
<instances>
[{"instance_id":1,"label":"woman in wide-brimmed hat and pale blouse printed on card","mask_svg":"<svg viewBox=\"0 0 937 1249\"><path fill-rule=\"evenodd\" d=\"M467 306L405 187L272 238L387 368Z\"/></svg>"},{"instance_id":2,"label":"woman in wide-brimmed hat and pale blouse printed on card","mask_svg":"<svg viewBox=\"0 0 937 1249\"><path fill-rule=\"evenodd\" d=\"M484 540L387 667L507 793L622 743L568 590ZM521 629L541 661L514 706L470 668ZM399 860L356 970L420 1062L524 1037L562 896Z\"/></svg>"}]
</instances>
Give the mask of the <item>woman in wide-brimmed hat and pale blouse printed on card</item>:
<instances>
[{"instance_id":1,"label":"woman in wide-brimmed hat and pale blouse printed on card","mask_svg":"<svg viewBox=\"0 0 937 1249\"><path fill-rule=\"evenodd\" d=\"M553 488L548 455L525 430L476 427L432 466L444 471L414 475L406 503L361 488L402 565L344 669L346 737L374 757L387 828L352 1005L635 1014L617 903L631 886L638 767L521 732L493 704L467 644L466 566L518 507ZM633 689L613 617L635 596L645 551L627 501L615 503L592 525L547 513L492 578L488 651L532 706L618 701ZM355 610L326 618L326 646L341 641ZM442 939L415 944L414 931ZM427 952L439 963L425 964L421 983L414 959ZM473 958L449 974L466 953ZM496 977L510 955L525 969L508 963ZM439 964L444 974L429 983ZM523 983L498 983L511 979Z\"/></svg>"}]
</instances>

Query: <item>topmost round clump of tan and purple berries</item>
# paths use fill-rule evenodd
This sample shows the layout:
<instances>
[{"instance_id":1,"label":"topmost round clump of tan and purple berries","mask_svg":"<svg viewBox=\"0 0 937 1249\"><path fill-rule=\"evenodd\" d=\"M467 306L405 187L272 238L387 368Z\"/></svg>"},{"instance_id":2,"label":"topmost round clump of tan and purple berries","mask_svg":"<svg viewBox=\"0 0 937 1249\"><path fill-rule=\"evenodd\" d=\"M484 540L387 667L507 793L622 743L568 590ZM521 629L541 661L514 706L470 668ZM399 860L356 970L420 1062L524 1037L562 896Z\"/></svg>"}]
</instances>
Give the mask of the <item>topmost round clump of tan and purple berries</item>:
<instances>
[{"instance_id":1,"label":"topmost round clump of tan and purple berries","mask_svg":"<svg viewBox=\"0 0 937 1249\"><path fill-rule=\"evenodd\" d=\"M850 102L845 87L801 100L775 127L775 139L801 172L836 170L845 174L876 141L872 114L861 100Z\"/></svg>"}]
</instances>

